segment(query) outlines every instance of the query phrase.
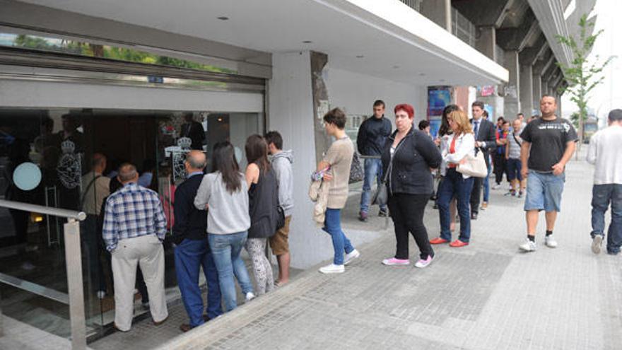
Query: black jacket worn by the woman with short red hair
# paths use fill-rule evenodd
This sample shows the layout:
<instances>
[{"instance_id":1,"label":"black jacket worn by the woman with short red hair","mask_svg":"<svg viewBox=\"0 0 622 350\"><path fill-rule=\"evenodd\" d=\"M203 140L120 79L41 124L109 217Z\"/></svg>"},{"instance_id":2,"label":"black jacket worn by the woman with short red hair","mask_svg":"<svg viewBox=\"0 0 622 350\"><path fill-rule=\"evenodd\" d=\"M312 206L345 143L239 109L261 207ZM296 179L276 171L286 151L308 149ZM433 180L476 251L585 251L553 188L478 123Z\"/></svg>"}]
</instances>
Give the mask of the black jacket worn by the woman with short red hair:
<instances>
[{"instance_id":1,"label":"black jacket worn by the woman with short red hair","mask_svg":"<svg viewBox=\"0 0 622 350\"><path fill-rule=\"evenodd\" d=\"M382 150L382 173L389 170L391 146L397 130L389 136ZM433 177L430 168L438 168L442 156L430 136L412 129L401 139L393 154L393 165L389 173L389 193L431 194Z\"/></svg>"}]
</instances>

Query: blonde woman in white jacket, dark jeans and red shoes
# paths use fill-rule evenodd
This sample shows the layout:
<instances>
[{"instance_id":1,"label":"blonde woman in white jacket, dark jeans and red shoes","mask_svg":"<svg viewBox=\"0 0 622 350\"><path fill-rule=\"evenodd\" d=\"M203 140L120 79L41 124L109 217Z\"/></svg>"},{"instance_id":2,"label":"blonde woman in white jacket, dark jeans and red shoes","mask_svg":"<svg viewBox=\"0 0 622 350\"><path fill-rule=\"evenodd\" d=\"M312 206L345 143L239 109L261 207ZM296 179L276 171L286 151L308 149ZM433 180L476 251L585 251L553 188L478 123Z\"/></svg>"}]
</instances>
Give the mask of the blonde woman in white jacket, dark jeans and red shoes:
<instances>
[{"instance_id":1,"label":"blonde woman in white jacket, dark jeans and red shoes","mask_svg":"<svg viewBox=\"0 0 622 350\"><path fill-rule=\"evenodd\" d=\"M473 189L473 177L457 172L457 166L467 155L474 156L475 137L466 113L461 110L451 112L447 116L452 134L447 139L447 147L442 151L442 159L447 164L445 178L438 187L438 211L440 216L440 237L430 240L431 244L449 243L452 240L450 231L450 202L454 197L458 203L460 216L460 235L450 243L450 247L469 245L471 238L471 211L469 199Z\"/></svg>"}]
</instances>

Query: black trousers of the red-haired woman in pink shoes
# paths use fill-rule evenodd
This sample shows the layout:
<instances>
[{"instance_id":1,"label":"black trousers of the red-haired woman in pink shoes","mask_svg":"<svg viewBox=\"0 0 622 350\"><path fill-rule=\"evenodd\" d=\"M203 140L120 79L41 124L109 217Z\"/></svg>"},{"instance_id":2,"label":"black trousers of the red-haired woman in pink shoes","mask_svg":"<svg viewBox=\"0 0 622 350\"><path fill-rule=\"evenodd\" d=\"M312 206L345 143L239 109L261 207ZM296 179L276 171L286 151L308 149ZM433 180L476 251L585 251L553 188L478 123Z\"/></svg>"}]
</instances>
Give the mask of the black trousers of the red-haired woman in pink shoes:
<instances>
[{"instance_id":1,"label":"black trousers of the red-haired woman in pink shoes","mask_svg":"<svg viewBox=\"0 0 622 350\"><path fill-rule=\"evenodd\" d=\"M397 259L409 258L409 233L415 238L419 247L419 257L427 259L434 256L434 251L428 239L428 231L423 226L423 212L430 199L430 194L404 194L396 193L389 195L389 212L395 228Z\"/></svg>"}]
</instances>

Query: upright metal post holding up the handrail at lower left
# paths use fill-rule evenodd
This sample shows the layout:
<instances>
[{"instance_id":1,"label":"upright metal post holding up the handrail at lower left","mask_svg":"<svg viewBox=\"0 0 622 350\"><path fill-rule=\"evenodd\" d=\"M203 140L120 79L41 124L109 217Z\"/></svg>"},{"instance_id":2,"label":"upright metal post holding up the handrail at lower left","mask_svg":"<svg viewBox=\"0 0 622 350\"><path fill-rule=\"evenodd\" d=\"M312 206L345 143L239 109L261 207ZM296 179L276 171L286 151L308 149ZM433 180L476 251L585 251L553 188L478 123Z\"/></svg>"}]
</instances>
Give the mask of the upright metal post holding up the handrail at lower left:
<instances>
[{"instance_id":1,"label":"upright metal post holding up the handrail at lower left","mask_svg":"<svg viewBox=\"0 0 622 350\"><path fill-rule=\"evenodd\" d=\"M71 322L71 349L86 349L86 320L82 283L82 255L80 223L73 218L64 224L67 289L69 290L69 317Z\"/></svg>"}]
</instances>

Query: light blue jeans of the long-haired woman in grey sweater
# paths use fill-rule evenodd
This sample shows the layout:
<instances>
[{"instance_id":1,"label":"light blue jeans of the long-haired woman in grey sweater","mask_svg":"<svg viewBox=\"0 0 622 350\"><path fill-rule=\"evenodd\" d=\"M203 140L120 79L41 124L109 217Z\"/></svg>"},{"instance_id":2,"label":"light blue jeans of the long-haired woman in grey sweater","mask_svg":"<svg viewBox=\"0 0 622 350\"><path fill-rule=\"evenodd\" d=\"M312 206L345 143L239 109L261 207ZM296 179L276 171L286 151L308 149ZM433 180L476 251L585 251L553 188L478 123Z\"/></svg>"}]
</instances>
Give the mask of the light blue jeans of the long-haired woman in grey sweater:
<instances>
[{"instance_id":1,"label":"light blue jeans of the long-haired woman in grey sweater","mask_svg":"<svg viewBox=\"0 0 622 350\"><path fill-rule=\"evenodd\" d=\"M228 235L215 235L209 233L209 248L213 255L216 269L218 270L218 281L221 284L221 293L225 300L225 310L231 311L237 308L235 293L235 282L233 275L237 278L237 283L242 288L242 293L252 292L252 283L246 269L246 265L240 257L242 247L246 243L247 232L230 233Z\"/></svg>"}]
</instances>

